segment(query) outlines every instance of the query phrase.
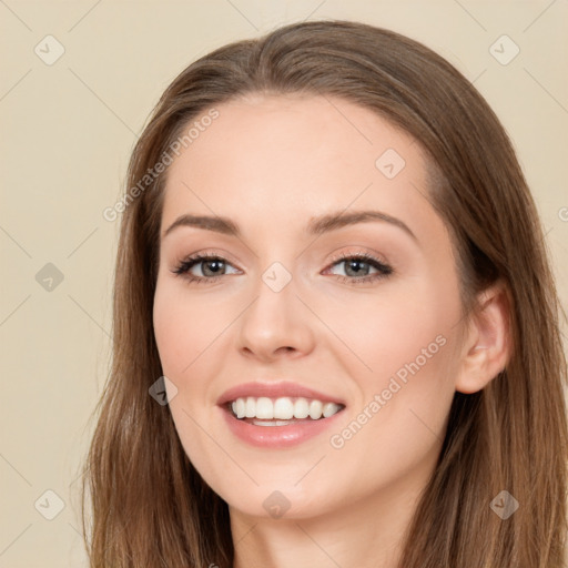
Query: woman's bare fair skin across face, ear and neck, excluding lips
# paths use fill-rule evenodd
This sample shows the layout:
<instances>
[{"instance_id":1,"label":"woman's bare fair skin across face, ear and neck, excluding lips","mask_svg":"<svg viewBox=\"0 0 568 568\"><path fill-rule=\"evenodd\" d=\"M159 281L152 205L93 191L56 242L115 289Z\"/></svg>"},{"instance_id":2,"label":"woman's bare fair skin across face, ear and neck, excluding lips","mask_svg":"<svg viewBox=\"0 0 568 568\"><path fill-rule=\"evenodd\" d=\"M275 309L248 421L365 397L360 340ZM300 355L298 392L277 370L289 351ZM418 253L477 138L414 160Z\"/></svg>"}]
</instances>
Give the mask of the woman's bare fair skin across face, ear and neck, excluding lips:
<instances>
[{"instance_id":1,"label":"woman's bare fair skin across face, ear and neck, excluding lips","mask_svg":"<svg viewBox=\"0 0 568 568\"><path fill-rule=\"evenodd\" d=\"M170 408L180 439L230 506L235 568L394 568L454 393L483 388L505 366L503 294L488 291L458 343L458 275L448 232L425 199L424 155L384 119L316 97L251 95L217 110L169 168L162 213L154 329L178 388ZM377 166L388 149L404 168L393 153ZM363 210L402 221L414 236L368 220L306 231L315 217ZM229 217L241 234L165 234L182 214ZM206 261L172 272L196 253L223 258L221 275ZM341 257L362 254L392 272L369 258L354 271ZM291 278L278 292L263 281L271 266ZM344 400L334 428L287 448L235 437L221 395L281 379ZM266 507L276 490L288 507L280 518Z\"/></svg>"}]
</instances>

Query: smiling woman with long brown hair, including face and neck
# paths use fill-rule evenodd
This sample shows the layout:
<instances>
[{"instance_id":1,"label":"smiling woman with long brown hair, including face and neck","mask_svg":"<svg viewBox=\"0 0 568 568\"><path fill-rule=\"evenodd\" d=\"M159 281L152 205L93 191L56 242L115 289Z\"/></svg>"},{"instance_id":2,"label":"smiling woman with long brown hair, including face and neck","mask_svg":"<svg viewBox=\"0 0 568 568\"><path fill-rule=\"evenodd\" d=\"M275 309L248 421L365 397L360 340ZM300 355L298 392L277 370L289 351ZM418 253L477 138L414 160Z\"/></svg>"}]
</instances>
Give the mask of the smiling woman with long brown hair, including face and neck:
<instances>
[{"instance_id":1,"label":"smiling woman with long brown hair, including face and neck","mask_svg":"<svg viewBox=\"0 0 568 568\"><path fill-rule=\"evenodd\" d=\"M342 21L226 45L128 187L91 566L564 566L558 300L449 63Z\"/></svg>"}]
</instances>

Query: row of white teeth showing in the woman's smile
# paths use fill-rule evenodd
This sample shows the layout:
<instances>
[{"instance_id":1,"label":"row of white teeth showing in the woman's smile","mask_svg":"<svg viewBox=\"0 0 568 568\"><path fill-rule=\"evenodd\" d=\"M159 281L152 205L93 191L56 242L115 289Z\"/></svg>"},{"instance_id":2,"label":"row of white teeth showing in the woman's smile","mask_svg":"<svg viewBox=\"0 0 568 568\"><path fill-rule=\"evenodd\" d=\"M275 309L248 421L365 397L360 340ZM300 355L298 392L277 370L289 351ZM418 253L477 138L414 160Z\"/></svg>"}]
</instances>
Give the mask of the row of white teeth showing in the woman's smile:
<instances>
[{"instance_id":1,"label":"row of white teeth showing in the woman's smile","mask_svg":"<svg viewBox=\"0 0 568 568\"><path fill-rule=\"evenodd\" d=\"M302 397L293 399L283 396L273 400L266 396L258 398L248 396L233 400L231 408L237 418L257 418L253 422L257 426L282 426L290 423L280 420L303 419L308 416L313 420L318 420L322 417L329 418L342 409L342 405L315 399L308 400Z\"/></svg>"}]
</instances>

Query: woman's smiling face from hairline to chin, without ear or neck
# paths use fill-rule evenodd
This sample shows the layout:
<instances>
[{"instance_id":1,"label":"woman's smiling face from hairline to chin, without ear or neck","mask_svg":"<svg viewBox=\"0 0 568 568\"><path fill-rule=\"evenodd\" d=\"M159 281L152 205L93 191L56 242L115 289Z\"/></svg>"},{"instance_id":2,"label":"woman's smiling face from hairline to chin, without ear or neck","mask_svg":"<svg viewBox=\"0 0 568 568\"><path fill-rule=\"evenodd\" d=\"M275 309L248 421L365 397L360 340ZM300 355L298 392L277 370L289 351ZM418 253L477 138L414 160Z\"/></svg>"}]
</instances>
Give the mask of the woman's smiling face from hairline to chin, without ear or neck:
<instances>
[{"instance_id":1,"label":"woman's smiling face from hairline to chin, without ear or neck","mask_svg":"<svg viewBox=\"0 0 568 568\"><path fill-rule=\"evenodd\" d=\"M341 99L216 110L168 171L154 298L187 456L256 517L414 495L460 351L458 275L418 144Z\"/></svg>"}]
</instances>

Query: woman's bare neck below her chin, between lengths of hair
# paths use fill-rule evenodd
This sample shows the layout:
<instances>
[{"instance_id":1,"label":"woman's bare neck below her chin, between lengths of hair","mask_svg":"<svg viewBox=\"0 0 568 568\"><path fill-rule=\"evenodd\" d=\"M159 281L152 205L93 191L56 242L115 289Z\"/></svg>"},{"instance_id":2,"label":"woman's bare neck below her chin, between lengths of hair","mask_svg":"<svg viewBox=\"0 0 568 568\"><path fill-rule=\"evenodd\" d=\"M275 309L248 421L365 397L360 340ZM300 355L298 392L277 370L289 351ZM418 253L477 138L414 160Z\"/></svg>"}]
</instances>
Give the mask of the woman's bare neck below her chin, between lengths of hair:
<instances>
[{"instance_id":1,"label":"woman's bare neck below her chin, between lengths of hair","mask_svg":"<svg viewBox=\"0 0 568 568\"><path fill-rule=\"evenodd\" d=\"M399 480L310 518L252 517L231 508L233 568L396 568L422 487Z\"/></svg>"}]
</instances>

